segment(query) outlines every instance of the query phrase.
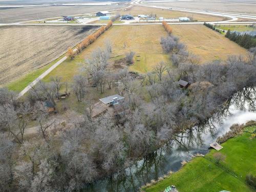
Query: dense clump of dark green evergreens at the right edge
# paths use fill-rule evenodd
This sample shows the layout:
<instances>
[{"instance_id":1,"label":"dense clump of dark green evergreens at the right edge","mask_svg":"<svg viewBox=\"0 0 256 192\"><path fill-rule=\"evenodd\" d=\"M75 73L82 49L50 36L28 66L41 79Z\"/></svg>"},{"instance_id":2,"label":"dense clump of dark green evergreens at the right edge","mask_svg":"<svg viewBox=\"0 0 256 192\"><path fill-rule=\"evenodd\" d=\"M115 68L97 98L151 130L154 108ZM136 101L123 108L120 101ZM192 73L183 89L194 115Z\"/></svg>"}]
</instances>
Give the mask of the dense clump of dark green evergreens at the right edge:
<instances>
[{"instance_id":1,"label":"dense clump of dark green evergreens at the right edge","mask_svg":"<svg viewBox=\"0 0 256 192\"><path fill-rule=\"evenodd\" d=\"M236 42L238 45L245 49L250 49L256 47L256 36L251 36L247 33L241 34L235 31L228 30L225 37L229 38L230 40Z\"/></svg>"}]
</instances>

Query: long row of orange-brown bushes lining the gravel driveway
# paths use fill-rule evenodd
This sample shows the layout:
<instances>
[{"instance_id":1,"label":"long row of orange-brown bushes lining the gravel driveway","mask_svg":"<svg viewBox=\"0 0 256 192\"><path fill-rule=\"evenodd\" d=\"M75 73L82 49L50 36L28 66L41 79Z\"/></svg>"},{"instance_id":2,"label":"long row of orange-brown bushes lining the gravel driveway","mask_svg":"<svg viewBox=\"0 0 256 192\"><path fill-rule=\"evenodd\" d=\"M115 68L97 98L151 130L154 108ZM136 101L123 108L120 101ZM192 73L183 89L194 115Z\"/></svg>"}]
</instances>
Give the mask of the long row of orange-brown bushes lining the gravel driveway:
<instances>
[{"instance_id":1,"label":"long row of orange-brown bushes lining the gravel driveway","mask_svg":"<svg viewBox=\"0 0 256 192\"><path fill-rule=\"evenodd\" d=\"M80 42L80 44L77 45L75 51L69 49L67 52L67 56L71 59L74 59L78 53L80 53L83 49L87 48L90 44L92 44L92 42L94 42L102 33L108 30L112 26L112 24L113 22L111 20L106 26L101 26L95 33L89 35L82 42Z\"/></svg>"}]
</instances>

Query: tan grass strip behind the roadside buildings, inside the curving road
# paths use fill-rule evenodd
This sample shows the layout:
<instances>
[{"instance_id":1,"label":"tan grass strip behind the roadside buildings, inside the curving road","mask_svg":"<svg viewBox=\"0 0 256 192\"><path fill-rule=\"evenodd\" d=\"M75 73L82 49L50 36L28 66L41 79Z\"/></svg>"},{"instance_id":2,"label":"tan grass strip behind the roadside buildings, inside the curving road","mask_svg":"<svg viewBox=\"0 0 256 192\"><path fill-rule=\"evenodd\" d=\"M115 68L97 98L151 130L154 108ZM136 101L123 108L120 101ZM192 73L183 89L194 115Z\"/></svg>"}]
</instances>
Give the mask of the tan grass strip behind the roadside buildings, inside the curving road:
<instances>
[{"instance_id":1,"label":"tan grass strip behind the roadside buildings, inside the curving road","mask_svg":"<svg viewBox=\"0 0 256 192\"><path fill-rule=\"evenodd\" d=\"M118 11L121 15L122 14L156 14L157 17L164 17L164 18L179 18L179 17L193 17L194 20L198 20L199 22L211 22L216 20L224 20L224 17L216 17L210 15L203 15L203 14L196 14L196 13L187 13L181 11L173 11L173 10L162 10L158 8L150 8L150 7L141 7L141 6L133 6L130 9Z\"/></svg>"}]
</instances>

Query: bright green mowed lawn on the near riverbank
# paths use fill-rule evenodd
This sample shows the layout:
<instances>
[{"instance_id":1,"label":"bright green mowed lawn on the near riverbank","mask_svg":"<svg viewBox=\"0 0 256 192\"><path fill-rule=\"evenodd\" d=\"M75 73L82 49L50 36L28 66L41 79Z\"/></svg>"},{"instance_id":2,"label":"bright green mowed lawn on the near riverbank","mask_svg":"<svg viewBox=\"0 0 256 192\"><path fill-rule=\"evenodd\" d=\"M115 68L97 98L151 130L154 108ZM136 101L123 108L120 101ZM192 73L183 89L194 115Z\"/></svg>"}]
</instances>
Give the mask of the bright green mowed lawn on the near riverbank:
<instances>
[{"instance_id":1,"label":"bright green mowed lawn on the near riverbank","mask_svg":"<svg viewBox=\"0 0 256 192\"><path fill-rule=\"evenodd\" d=\"M159 178L158 182L147 184L142 191L164 191L175 185L179 192L186 191L255 191L246 183L246 175L256 176L256 139L251 133L256 125L245 126L242 135L222 143L222 150L210 150L204 157L196 157L185 164L178 172ZM221 154L221 155L220 155ZM221 156L217 163L216 156Z\"/></svg>"}]
</instances>

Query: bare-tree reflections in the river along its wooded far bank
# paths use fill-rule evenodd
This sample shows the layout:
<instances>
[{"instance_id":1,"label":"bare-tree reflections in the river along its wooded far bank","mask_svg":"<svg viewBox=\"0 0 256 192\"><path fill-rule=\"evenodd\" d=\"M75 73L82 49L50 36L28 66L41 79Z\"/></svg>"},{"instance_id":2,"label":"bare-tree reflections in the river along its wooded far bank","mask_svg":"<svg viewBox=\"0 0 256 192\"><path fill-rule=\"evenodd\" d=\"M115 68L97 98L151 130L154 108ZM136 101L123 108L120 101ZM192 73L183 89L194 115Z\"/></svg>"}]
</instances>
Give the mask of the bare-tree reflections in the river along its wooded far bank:
<instances>
[{"instance_id":1,"label":"bare-tree reflections in the river along its wooded far bank","mask_svg":"<svg viewBox=\"0 0 256 192\"><path fill-rule=\"evenodd\" d=\"M167 162L165 154L172 154L175 150L177 155L189 153L194 147L199 148L204 145L202 134L215 136L217 130L216 124L232 114L231 106L240 110L255 110L256 88L244 88L233 94L223 105L219 112L213 114L205 122L193 126L183 133L175 135L175 138L165 144L162 148L136 162L133 166L115 174L107 179L103 188L107 185L108 191L138 191L139 186L144 185L152 179L157 179L164 173L164 163ZM94 190L91 190L94 191Z\"/></svg>"}]
</instances>

